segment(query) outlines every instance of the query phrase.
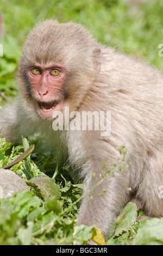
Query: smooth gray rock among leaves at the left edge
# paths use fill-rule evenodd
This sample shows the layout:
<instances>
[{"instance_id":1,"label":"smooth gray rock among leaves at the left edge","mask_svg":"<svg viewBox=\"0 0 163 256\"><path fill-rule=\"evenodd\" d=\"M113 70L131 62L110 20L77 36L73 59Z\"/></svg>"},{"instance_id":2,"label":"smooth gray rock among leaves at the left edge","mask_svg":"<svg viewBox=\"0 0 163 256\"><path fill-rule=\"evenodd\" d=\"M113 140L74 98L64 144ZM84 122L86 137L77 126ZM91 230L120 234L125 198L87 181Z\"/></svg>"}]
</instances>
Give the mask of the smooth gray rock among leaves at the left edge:
<instances>
[{"instance_id":1,"label":"smooth gray rock among leaves at the left edge","mask_svg":"<svg viewBox=\"0 0 163 256\"><path fill-rule=\"evenodd\" d=\"M29 190L29 187L20 176L12 170L0 168L0 198L8 198L24 190Z\"/></svg>"}]
</instances>

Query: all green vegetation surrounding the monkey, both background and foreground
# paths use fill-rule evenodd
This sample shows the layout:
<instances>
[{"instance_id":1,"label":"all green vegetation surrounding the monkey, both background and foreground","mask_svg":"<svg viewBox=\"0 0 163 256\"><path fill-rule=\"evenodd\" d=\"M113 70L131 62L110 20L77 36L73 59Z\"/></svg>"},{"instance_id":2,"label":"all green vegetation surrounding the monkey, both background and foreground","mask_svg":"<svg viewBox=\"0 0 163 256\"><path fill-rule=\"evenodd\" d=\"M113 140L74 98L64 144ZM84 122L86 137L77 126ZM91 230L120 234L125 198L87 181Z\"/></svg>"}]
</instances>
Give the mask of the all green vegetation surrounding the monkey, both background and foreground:
<instances>
[{"instance_id":1,"label":"all green vegetation surrounding the monkey, both background and foreground","mask_svg":"<svg viewBox=\"0 0 163 256\"><path fill-rule=\"evenodd\" d=\"M163 43L161 0L138 7L126 5L122 0L1 0L0 10L4 22L0 41L4 48L4 55L0 57L1 106L17 94L14 71L24 41L35 23L44 19L79 22L102 44L116 46L118 51L147 60L163 70L163 58L158 55L158 46ZM0 147L1 167L24 150L21 145L8 147L10 150ZM24 180L42 172L53 177L60 197L54 194L51 199L42 198L39 191L32 188L31 192L1 199L0 244L84 244L95 233L95 240L102 243L101 234L95 228L75 228L82 185L78 184L70 164L63 166L55 152L42 151L39 145L36 148L32 154L34 162L23 160L11 169ZM135 205L127 205L117 218L107 244L163 245L162 219L136 222L136 217Z\"/></svg>"}]
</instances>

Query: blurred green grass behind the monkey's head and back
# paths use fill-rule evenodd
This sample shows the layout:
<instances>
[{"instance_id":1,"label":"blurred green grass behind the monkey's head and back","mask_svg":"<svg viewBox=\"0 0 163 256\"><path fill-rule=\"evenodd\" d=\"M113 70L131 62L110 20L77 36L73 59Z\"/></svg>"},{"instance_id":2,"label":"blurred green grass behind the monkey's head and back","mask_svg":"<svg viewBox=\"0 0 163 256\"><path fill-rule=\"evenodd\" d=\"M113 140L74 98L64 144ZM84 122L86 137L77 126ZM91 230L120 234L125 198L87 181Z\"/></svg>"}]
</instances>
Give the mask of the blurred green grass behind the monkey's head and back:
<instances>
[{"instance_id":1,"label":"blurred green grass behind the monkey's head and back","mask_svg":"<svg viewBox=\"0 0 163 256\"><path fill-rule=\"evenodd\" d=\"M147 60L163 70L162 0L0 0L4 54L0 57L0 105L16 95L14 70L24 41L44 19L84 25L103 44Z\"/></svg>"}]
</instances>

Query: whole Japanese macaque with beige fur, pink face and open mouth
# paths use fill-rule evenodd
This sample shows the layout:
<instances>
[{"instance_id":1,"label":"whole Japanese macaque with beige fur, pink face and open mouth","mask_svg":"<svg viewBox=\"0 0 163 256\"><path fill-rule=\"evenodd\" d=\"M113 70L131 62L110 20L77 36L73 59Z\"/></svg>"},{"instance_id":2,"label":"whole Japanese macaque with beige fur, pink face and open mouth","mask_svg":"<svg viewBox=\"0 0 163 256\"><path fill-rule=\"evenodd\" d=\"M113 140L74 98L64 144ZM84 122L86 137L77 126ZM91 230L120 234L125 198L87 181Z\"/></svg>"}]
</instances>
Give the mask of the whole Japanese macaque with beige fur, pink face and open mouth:
<instances>
[{"instance_id":1,"label":"whole Japanese macaque with beige fur, pink face and open mouth","mask_svg":"<svg viewBox=\"0 0 163 256\"><path fill-rule=\"evenodd\" d=\"M18 96L0 114L0 133L14 143L37 133L63 148L85 179L78 225L97 224L106 239L130 196L148 216L163 216L161 71L99 44L76 23L46 20L28 35L16 81ZM88 112L104 113L110 132L97 129L97 119L92 129L82 129ZM58 119L54 127L59 113L69 126ZM114 163L123 158L121 146L127 154L119 166Z\"/></svg>"}]
</instances>

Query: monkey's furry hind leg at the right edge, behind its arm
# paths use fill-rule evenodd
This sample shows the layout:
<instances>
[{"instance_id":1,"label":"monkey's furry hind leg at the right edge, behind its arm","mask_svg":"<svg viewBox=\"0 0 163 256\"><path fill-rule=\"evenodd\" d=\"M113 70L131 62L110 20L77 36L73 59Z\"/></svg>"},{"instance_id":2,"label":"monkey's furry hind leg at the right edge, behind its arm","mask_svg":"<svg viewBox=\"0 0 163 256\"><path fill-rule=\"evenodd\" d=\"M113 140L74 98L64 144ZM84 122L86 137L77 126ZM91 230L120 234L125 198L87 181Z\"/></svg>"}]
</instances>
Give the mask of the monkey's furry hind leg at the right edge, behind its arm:
<instances>
[{"instance_id":1,"label":"monkey's furry hind leg at the right edge, behind its arm","mask_svg":"<svg viewBox=\"0 0 163 256\"><path fill-rule=\"evenodd\" d=\"M148 216L163 216L163 149L149 156L143 169L143 178L137 191Z\"/></svg>"}]
</instances>

